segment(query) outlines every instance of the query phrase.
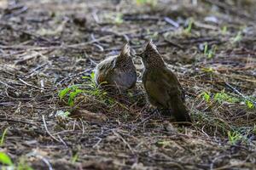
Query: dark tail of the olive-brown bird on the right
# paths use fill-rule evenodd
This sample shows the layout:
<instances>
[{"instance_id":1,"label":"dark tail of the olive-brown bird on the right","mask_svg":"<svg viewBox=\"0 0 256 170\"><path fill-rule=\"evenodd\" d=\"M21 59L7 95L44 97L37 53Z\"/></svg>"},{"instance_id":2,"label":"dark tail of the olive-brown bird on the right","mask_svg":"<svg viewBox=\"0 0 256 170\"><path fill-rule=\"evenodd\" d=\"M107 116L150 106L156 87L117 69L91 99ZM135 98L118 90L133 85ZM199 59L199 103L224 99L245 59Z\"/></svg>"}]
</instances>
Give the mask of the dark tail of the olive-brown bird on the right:
<instances>
[{"instance_id":1,"label":"dark tail of the olive-brown bird on the right","mask_svg":"<svg viewBox=\"0 0 256 170\"><path fill-rule=\"evenodd\" d=\"M173 116L176 118L177 122L191 122L189 111L179 96L172 96L169 105L172 108Z\"/></svg>"}]
</instances>

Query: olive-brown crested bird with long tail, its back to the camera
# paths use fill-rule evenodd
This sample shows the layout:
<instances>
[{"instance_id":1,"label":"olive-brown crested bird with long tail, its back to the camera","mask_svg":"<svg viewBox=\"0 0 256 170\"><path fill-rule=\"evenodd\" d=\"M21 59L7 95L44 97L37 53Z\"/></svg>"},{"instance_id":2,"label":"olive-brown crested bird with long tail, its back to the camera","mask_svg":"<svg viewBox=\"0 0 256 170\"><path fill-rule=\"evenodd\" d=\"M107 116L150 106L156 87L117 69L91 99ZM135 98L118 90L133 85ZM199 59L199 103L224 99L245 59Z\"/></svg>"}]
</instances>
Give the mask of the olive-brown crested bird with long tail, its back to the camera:
<instances>
[{"instance_id":1,"label":"olive-brown crested bird with long tail, its back to the camera","mask_svg":"<svg viewBox=\"0 0 256 170\"><path fill-rule=\"evenodd\" d=\"M137 55L143 60L143 87L149 103L173 114L177 122L191 122L183 88L154 42L149 41L143 53Z\"/></svg>"}]
</instances>

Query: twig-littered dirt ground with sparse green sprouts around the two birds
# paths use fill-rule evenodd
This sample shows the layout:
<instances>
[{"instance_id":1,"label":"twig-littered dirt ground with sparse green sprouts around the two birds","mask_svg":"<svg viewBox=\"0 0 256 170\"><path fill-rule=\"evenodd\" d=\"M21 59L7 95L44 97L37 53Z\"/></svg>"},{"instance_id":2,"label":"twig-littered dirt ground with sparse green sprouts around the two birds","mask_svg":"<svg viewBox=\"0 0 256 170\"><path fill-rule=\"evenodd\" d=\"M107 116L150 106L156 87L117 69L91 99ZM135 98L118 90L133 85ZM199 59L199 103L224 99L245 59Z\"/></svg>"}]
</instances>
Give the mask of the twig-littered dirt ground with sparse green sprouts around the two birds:
<instances>
[{"instance_id":1,"label":"twig-littered dirt ground with sparse green sprouts around the two birds","mask_svg":"<svg viewBox=\"0 0 256 170\"><path fill-rule=\"evenodd\" d=\"M256 169L255 8L254 0L1 0L0 151L17 169ZM136 54L150 39L186 91L190 127L152 114L137 57L128 94L90 80L126 41Z\"/></svg>"}]
</instances>

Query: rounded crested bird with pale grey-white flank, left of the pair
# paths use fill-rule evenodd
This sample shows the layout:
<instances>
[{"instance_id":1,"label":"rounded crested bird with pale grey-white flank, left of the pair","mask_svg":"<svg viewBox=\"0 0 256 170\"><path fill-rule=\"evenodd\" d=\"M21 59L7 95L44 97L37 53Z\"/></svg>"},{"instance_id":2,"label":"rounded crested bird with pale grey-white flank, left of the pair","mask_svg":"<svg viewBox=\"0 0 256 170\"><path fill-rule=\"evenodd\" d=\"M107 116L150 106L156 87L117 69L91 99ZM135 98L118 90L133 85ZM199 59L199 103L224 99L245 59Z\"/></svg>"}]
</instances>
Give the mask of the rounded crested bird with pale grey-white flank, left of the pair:
<instances>
[{"instance_id":1,"label":"rounded crested bird with pale grey-white flank, left of the pair","mask_svg":"<svg viewBox=\"0 0 256 170\"><path fill-rule=\"evenodd\" d=\"M108 87L119 89L121 92L135 87L137 71L131 59L128 42L121 48L119 55L103 59L96 65L95 82L97 86L108 85Z\"/></svg>"}]
</instances>

